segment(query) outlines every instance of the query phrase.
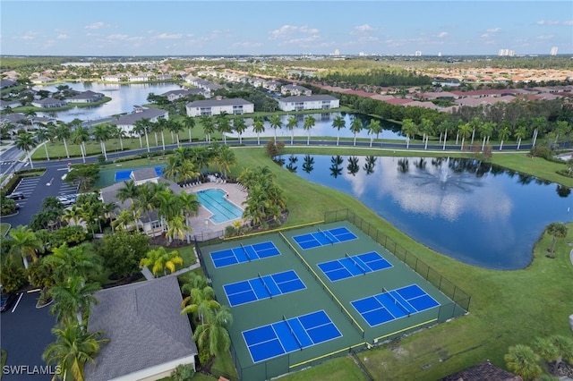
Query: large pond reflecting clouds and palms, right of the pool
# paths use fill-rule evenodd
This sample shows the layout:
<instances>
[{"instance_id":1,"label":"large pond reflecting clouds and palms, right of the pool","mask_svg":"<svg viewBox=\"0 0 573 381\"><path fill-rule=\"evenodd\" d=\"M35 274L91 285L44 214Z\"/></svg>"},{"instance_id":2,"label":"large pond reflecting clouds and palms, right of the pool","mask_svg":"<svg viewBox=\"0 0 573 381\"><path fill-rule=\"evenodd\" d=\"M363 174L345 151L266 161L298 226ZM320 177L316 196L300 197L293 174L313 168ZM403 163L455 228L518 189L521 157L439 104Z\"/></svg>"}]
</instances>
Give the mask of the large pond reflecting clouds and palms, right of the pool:
<instances>
[{"instance_id":1,"label":"large pond reflecting clouds and palms, right of the pool","mask_svg":"<svg viewBox=\"0 0 573 381\"><path fill-rule=\"evenodd\" d=\"M569 188L471 159L281 157L354 196L423 245L469 265L519 269L547 224L569 222Z\"/></svg>"}]
</instances>

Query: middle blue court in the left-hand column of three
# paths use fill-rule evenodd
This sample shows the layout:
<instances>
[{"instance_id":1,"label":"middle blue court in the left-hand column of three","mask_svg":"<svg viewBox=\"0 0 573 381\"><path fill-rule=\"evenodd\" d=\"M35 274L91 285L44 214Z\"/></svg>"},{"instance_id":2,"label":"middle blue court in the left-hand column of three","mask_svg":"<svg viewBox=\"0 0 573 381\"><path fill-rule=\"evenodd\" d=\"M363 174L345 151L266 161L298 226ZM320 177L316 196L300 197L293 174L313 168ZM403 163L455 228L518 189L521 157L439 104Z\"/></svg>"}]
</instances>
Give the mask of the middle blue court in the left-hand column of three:
<instances>
[{"instance_id":1,"label":"middle blue court in the left-hand column of three","mask_svg":"<svg viewBox=\"0 0 573 381\"><path fill-rule=\"evenodd\" d=\"M235 284L223 286L231 307L240 304L269 299L283 293L304 290L306 286L296 275L295 270L278 274L258 276Z\"/></svg>"}]
</instances>

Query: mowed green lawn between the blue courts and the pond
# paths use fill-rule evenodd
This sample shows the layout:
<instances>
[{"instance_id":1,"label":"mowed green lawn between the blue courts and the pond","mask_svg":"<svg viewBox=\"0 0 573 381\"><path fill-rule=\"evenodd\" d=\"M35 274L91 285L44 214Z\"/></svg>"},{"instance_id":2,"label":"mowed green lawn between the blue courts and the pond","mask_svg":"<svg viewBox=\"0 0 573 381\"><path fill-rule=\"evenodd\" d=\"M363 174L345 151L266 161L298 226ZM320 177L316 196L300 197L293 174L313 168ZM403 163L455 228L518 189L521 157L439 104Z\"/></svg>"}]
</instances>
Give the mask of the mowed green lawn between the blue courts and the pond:
<instances>
[{"instance_id":1,"label":"mowed green lawn between the blue courts and the pond","mask_svg":"<svg viewBox=\"0 0 573 381\"><path fill-rule=\"evenodd\" d=\"M306 152L304 148L295 150ZM319 221L326 211L348 208L472 295L466 317L361 353L358 357L375 379L437 379L488 359L505 368L503 355L509 346L531 344L537 336L570 334L573 266L566 242L573 241L573 225L568 238L560 240L555 259L544 257L543 250L550 246L551 238L543 237L535 250L535 260L526 269L472 267L423 247L354 198L289 173L265 157L262 148L238 148L235 154L240 165L233 168L232 174L239 174L243 167L268 165L277 175L290 211L286 225ZM535 163L539 167L533 169L547 176L552 171L545 169L541 159L528 159L522 154L496 155L493 161L523 170L529 168L525 162Z\"/></svg>"}]
</instances>

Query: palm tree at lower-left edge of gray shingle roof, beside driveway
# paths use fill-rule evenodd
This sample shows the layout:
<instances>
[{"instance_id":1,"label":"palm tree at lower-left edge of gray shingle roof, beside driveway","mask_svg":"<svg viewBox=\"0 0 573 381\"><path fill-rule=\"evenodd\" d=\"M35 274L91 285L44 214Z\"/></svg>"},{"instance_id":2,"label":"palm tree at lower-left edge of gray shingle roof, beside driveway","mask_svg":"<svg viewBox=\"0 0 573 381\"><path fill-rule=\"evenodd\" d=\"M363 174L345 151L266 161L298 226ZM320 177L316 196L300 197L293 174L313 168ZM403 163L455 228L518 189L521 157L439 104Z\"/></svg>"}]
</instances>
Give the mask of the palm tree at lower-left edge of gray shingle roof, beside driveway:
<instances>
[{"instance_id":1,"label":"palm tree at lower-left edge of gray shingle roof, beside driveway","mask_svg":"<svg viewBox=\"0 0 573 381\"><path fill-rule=\"evenodd\" d=\"M62 370L53 379L83 381L85 363L95 365L100 346L109 343L109 339L102 339L103 332L90 334L77 325L56 326L52 334L56 336L56 342L47 345L42 359Z\"/></svg>"}]
</instances>

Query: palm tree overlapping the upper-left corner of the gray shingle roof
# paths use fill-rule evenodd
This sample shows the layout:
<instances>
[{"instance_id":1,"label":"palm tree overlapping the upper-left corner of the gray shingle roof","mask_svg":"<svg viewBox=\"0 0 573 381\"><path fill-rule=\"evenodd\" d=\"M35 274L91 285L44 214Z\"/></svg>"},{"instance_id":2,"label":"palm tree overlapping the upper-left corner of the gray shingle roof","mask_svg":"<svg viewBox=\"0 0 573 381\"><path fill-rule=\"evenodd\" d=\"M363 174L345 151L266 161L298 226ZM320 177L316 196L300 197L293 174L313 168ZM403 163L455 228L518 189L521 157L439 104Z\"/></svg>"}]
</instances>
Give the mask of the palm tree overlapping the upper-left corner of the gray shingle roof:
<instances>
[{"instance_id":1,"label":"palm tree overlapping the upper-left corner of the gray shingle roof","mask_svg":"<svg viewBox=\"0 0 573 381\"><path fill-rule=\"evenodd\" d=\"M65 282L56 284L50 290L54 304L50 312L56 315L56 320L64 324L78 324L85 328L84 318L90 315L91 305L98 304L92 295L101 289L98 283L86 283L81 276L68 277Z\"/></svg>"}]
</instances>

